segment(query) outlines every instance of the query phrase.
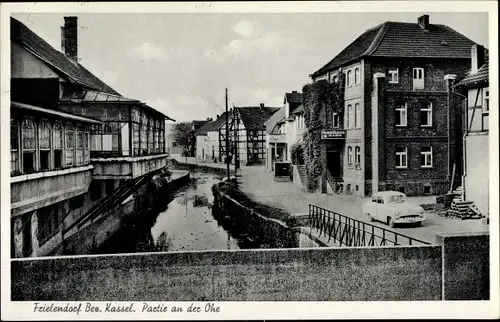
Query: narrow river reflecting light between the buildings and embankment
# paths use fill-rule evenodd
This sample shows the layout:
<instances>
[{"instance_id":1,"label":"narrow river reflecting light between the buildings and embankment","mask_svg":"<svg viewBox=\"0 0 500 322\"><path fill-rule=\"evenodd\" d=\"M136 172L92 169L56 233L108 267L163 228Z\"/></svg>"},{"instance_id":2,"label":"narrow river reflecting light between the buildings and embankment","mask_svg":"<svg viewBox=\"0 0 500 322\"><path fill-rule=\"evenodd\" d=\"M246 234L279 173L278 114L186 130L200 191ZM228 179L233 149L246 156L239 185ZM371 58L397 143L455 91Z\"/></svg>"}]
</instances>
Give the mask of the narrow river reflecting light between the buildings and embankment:
<instances>
[{"instance_id":1,"label":"narrow river reflecting light between the buildings and embankment","mask_svg":"<svg viewBox=\"0 0 500 322\"><path fill-rule=\"evenodd\" d=\"M165 196L171 199L166 209L125 225L94 253L260 248L255 242L232 236L212 217L211 189L222 177L194 172L191 178L187 186Z\"/></svg>"}]
</instances>

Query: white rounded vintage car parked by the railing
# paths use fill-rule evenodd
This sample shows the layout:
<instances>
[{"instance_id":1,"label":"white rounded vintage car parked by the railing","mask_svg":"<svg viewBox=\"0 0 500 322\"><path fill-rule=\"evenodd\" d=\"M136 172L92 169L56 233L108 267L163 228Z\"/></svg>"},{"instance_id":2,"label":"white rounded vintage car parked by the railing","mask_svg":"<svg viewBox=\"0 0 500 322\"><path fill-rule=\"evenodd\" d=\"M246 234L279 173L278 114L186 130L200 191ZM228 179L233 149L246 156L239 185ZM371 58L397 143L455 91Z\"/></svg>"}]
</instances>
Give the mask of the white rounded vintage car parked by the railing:
<instances>
[{"instance_id":1,"label":"white rounded vintage car parked by the railing","mask_svg":"<svg viewBox=\"0 0 500 322\"><path fill-rule=\"evenodd\" d=\"M402 192L381 191L363 204L363 213L370 221L381 221L394 227L395 224L413 223L422 225L425 221L424 209L408 202Z\"/></svg>"}]
</instances>

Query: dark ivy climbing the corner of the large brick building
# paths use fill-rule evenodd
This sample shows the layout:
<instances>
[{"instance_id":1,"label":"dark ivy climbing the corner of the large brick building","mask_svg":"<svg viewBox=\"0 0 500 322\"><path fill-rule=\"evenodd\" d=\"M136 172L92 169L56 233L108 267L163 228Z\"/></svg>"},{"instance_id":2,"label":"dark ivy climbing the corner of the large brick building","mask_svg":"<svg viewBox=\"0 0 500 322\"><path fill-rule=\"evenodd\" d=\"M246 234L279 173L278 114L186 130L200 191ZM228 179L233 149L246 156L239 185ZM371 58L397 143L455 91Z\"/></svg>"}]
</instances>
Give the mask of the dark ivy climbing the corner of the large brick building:
<instances>
[{"instance_id":1,"label":"dark ivy climbing the corner of the large brick building","mask_svg":"<svg viewBox=\"0 0 500 322\"><path fill-rule=\"evenodd\" d=\"M321 130L333 124L333 112L343 119L344 110L344 82L341 77L337 83L320 80L306 84L302 89L304 105L304 132L303 149L304 164L306 165L306 185L309 191L314 191L323 172L321 155ZM342 127L342 124L340 124Z\"/></svg>"}]
</instances>

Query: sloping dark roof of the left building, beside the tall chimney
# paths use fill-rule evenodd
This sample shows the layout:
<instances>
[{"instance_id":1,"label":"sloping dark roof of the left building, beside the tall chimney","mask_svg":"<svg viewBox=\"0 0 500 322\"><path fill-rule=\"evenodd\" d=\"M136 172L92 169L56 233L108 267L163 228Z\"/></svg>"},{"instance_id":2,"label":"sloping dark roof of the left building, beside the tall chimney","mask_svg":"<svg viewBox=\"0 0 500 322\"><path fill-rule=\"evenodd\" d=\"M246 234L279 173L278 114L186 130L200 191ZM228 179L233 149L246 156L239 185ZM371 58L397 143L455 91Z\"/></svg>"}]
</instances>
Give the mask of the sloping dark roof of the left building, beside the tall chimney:
<instances>
[{"instance_id":1,"label":"sloping dark roof of the left building, beside the tall chimney","mask_svg":"<svg viewBox=\"0 0 500 322\"><path fill-rule=\"evenodd\" d=\"M63 53L49 45L20 21L11 17L10 28L10 38L13 42L52 66L70 81L97 91L119 95L118 92L94 76L85 67L69 60Z\"/></svg>"}]
</instances>

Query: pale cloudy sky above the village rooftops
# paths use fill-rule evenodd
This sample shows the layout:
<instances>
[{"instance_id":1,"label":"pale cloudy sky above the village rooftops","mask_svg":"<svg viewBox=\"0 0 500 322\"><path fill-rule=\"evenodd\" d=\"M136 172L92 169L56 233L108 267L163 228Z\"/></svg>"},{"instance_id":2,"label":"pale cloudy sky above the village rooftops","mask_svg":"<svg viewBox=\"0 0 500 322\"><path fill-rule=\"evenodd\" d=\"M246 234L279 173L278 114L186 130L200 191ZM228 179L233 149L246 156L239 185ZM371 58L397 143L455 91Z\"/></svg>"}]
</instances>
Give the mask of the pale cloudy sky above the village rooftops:
<instances>
[{"instance_id":1,"label":"pale cloudy sky above the village rooftops","mask_svg":"<svg viewBox=\"0 0 500 322\"><path fill-rule=\"evenodd\" d=\"M177 121L229 106L281 107L366 29L426 13L75 14L80 63L123 96ZM427 13L488 47L487 13ZM13 14L56 49L71 14Z\"/></svg>"}]
</instances>

